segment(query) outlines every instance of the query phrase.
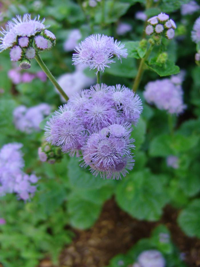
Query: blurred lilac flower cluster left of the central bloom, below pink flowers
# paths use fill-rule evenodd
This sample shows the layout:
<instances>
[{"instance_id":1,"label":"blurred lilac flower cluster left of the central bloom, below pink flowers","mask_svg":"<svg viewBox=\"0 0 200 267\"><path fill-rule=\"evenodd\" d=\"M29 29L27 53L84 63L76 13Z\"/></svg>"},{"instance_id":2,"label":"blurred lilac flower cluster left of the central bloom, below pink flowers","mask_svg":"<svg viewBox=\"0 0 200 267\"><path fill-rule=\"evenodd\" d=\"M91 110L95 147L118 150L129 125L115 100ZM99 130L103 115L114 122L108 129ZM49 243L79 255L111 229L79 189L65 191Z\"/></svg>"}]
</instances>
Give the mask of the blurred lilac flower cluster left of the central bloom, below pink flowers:
<instances>
[{"instance_id":1,"label":"blurred lilac flower cluster left of the central bloom, below pink flowers","mask_svg":"<svg viewBox=\"0 0 200 267\"><path fill-rule=\"evenodd\" d=\"M37 106L27 108L26 106L18 106L13 111L15 127L21 132L32 133L39 131L39 124L51 112L51 106L41 103Z\"/></svg>"}]
</instances>

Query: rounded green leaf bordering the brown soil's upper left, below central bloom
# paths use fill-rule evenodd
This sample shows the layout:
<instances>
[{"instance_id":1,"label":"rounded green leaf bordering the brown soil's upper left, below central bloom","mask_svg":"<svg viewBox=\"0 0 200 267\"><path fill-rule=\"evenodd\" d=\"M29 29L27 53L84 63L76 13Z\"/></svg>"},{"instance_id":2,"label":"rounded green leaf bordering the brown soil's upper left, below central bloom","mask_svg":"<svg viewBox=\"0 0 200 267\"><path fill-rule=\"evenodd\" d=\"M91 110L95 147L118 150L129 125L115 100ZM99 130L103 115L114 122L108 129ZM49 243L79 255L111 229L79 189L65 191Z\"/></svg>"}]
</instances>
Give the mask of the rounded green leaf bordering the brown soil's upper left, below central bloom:
<instances>
[{"instance_id":1,"label":"rounded green leaf bordering the brown soil's upper left, below central bloom","mask_svg":"<svg viewBox=\"0 0 200 267\"><path fill-rule=\"evenodd\" d=\"M71 226L83 230L95 223L101 212L101 205L75 197L67 201L67 209Z\"/></svg>"}]
</instances>

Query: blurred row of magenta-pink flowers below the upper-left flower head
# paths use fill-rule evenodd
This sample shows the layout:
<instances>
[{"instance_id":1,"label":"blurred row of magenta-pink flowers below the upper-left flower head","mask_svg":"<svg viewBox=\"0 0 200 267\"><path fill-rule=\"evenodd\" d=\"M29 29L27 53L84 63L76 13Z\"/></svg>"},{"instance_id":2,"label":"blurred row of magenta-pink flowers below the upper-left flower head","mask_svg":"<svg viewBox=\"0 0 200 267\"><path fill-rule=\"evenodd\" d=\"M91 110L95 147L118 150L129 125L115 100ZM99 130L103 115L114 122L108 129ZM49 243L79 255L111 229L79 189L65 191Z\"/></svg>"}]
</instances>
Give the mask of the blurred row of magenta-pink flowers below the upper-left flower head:
<instances>
[{"instance_id":1,"label":"blurred row of magenta-pink flowers below the upper-left flower head","mask_svg":"<svg viewBox=\"0 0 200 267\"><path fill-rule=\"evenodd\" d=\"M21 72L21 68L13 68L8 71L8 77L11 79L13 84L32 82L33 79L39 78L42 82L47 80L47 76L43 71L36 73Z\"/></svg>"}]
</instances>

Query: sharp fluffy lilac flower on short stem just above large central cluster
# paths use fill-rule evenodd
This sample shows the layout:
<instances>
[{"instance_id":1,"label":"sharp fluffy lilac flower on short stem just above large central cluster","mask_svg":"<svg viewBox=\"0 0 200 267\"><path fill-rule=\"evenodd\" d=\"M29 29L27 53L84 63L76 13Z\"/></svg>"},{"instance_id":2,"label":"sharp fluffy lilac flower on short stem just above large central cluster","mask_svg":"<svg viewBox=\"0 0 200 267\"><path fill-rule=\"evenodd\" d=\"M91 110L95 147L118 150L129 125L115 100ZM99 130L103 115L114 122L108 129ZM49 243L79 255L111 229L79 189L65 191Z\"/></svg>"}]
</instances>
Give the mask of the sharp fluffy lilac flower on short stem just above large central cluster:
<instances>
[{"instance_id":1,"label":"sharp fluffy lilac flower on short stem just above large central cluster","mask_svg":"<svg viewBox=\"0 0 200 267\"><path fill-rule=\"evenodd\" d=\"M106 35L90 35L84 41L76 46L76 54L73 54L73 64L87 65L90 69L96 69L97 72L104 71L105 67L109 68L108 64L115 62L113 57L118 59L127 58L127 49L121 42L113 37Z\"/></svg>"}]
</instances>

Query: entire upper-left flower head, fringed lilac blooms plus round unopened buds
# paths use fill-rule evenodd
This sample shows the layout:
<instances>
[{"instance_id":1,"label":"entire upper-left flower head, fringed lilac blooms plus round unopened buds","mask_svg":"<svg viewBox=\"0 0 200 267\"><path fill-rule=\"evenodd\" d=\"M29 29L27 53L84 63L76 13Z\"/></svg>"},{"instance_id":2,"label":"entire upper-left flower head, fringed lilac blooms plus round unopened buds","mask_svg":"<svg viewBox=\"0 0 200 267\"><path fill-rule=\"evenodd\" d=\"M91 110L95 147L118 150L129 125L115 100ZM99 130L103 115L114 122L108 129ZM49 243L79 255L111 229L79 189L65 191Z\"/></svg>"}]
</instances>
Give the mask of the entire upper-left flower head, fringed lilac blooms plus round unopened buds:
<instances>
[{"instance_id":1,"label":"entire upper-left flower head, fringed lilac blooms plus round unopened buds","mask_svg":"<svg viewBox=\"0 0 200 267\"><path fill-rule=\"evenodd\" d=\"M47 30L42 21L38 17L31 19L30 14L23 17L17 16L9 21L6 29L0 33L0 52L10 50L11 61L20 61L22 69L31 67L30 60L35 58L37 53L47 51L55 45L55 35Z\"/></svg>"}]
</instances>

